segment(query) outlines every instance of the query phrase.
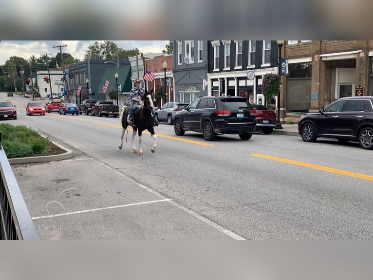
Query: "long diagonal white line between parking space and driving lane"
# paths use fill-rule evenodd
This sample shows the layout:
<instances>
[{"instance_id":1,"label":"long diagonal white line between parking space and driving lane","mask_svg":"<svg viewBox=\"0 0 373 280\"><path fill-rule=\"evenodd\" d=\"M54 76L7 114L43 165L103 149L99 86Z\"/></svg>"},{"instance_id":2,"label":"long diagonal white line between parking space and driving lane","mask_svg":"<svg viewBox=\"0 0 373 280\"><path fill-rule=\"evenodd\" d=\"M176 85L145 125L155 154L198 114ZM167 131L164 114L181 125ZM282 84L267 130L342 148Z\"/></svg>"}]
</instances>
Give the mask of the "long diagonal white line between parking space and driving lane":
<instances>
[{"instance_id":1,"label":"long diagonal white line between parking space and driving lane","mask_svg":"<svg viewBox=\"0 0 373 280\"><path fill-rule=\"evenodd\" d=\"M134 184L136 184L136 185L142 187L143 189L147 190L148 192L150 192L150 193L152 193L152 194L154 194L154 195L156 195L156 196L162 198L162 199L165 200L165 201L167 200L167 201L168 201L169 203L171 203L173 206L176 206L177 208L179 208L179 209L183 210L184 212L188 213L189 215L192 215L194 218L197 218L198 220L203 221L204 223L206 223L206 224L208 224L209 226L215 228L216 230L220 231L221 233L223 233L223 234L225 234L225 235L227 235L227 236L229 236L229 237L231 237L231 238L233 238L233 239L235 239L235 240L245 240L243 237L241 237L241 236L235 234L234 232L232 232L232 231L230 231L230 230L224 228L223 226L217 224L216 222L213 222L212 220L208 220L207 218L201 216L200 214L194 212L193 210L190 210L190 209L184 207L184 206L181 205L180 203L177 203L177 202L175 202L175 201L173 201L173 200L171 200L171 199L168 199L168 198L165 197L164 195L162 195L162 194L160 194L160 193L158 193L158 192L156 192L156 191L154 191L154 190L148 188L146 185L143 185L143 184L141 184L141 183L139 183L139 182L137 182L137 181L131 179L130 177L128 177L128 176L126 176L126 175L120 173L119 171L114 170L114 169L113 169L112 167L110 167L109 165L107 165L107 164L105 164L105 163L102 163L102 162L99 162L99 161L97 161L97 160L95 160L95 161L96 161L97 163L99 163L99 164L105 166L106 168L108 168L108 169L114 171L114 172L117 173L119 176L124 177L126 180L129 180L129 181L131 181L132 183L134 183Z\"/></svg>"}]
</instances>

